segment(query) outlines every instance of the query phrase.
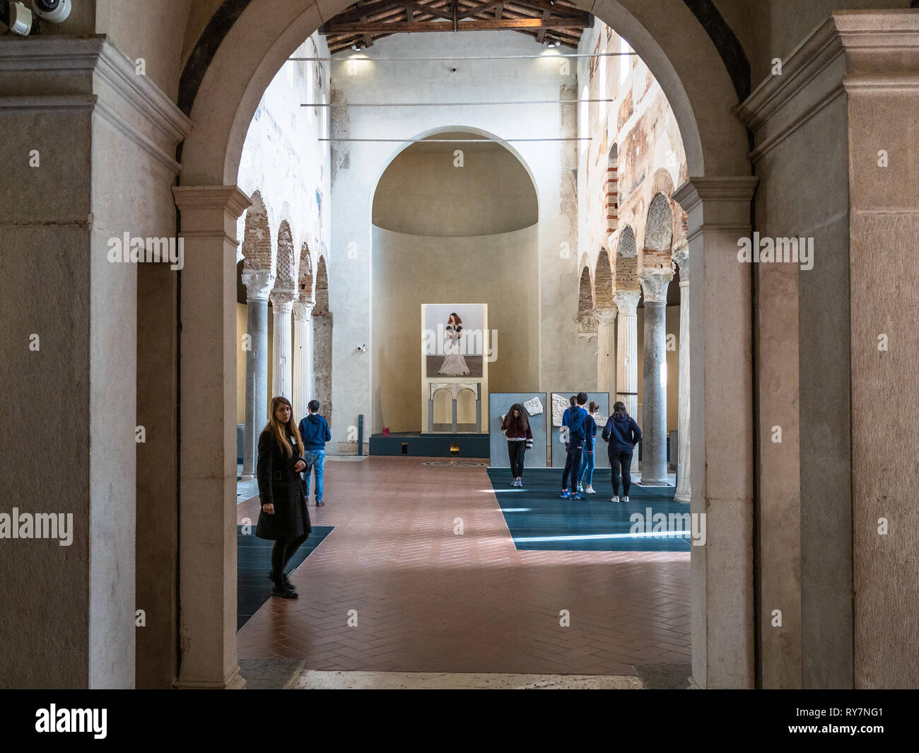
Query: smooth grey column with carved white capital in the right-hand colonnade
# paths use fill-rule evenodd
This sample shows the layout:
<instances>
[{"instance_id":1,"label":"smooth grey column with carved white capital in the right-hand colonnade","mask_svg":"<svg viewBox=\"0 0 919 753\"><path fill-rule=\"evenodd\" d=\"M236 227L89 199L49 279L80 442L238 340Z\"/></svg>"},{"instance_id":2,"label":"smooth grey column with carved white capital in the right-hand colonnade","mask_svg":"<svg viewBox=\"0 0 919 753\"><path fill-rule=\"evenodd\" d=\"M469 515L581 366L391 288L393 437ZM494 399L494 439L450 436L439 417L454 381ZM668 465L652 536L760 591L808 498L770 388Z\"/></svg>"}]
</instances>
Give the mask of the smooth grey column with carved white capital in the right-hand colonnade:
<instances>
[{"instance_id":1,"label":"smooth grey column with carved white capital in the right-hand colonnade","mask_svg":"<svg viewBox=\"0 0 919 753\"><path fill-rule=\"evenodd\" d=\"M673 269L642 269L644 291L644 380L641 399L641 485L667 484L666 369L667 286Z\"/></svg>"}]
</instances>

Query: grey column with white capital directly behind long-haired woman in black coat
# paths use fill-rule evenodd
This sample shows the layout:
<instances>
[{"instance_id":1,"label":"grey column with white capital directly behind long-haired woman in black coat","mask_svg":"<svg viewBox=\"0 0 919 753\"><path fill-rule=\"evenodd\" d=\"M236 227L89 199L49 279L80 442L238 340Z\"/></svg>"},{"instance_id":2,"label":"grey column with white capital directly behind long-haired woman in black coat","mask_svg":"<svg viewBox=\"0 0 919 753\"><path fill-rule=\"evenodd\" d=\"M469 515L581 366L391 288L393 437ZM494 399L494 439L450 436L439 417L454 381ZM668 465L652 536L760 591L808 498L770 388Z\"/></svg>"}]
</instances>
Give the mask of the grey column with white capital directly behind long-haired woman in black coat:
<instances>
[{"instance_id":1,"label":"grey column with white capital directly behind long-haired woman in black coat","mask_svg":"<svg viewBox=\"0 0 919 753\"><path fill-rule=\"evenodd\" d=\"M242 478L249 481L255 477L258 435L268 422L268 292L275 276L270 269L243 269L243 284L249 349L245 353Z\"/></svg>"}]
</instances>

